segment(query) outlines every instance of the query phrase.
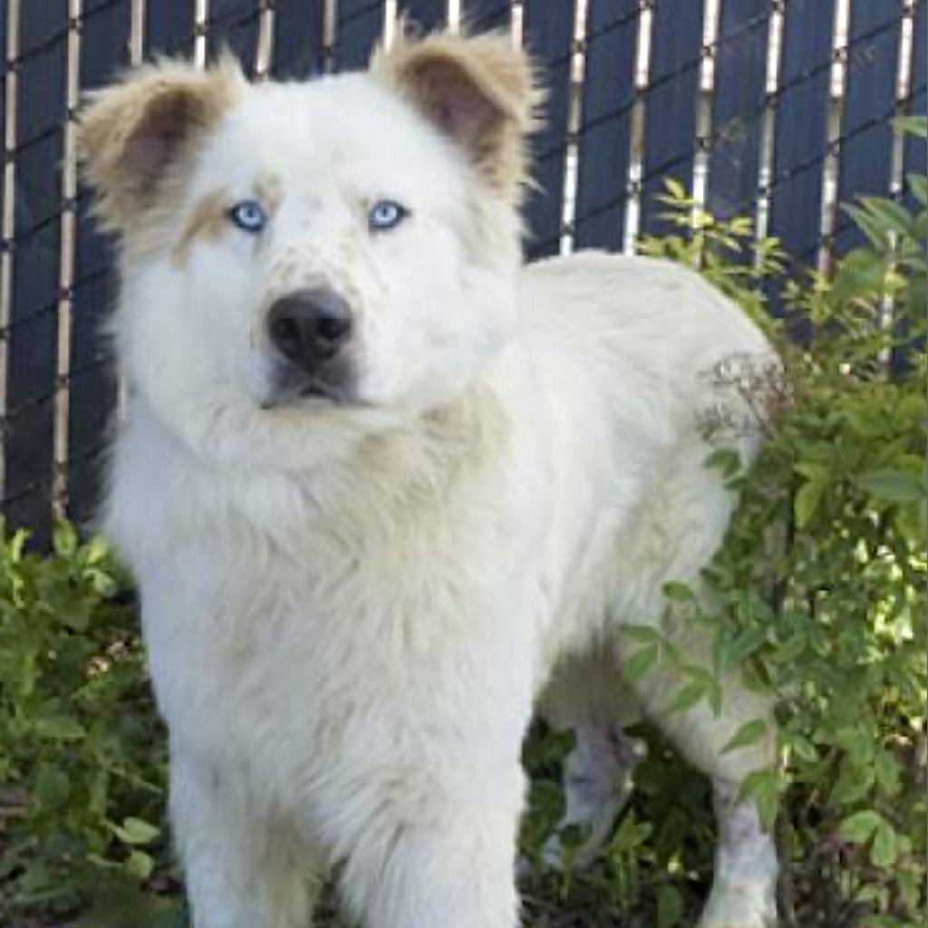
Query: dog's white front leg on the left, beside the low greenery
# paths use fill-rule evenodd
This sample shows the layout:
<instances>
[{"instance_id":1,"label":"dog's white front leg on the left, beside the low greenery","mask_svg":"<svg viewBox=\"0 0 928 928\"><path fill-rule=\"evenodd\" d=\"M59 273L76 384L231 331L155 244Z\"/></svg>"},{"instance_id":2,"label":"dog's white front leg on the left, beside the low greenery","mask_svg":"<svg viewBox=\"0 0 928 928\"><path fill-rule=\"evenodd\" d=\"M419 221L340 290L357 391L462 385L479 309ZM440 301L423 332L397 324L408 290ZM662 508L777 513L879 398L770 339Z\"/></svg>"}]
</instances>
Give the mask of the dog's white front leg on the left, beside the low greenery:
<instances>
[{"instance_id":1,"label":"dog's white front leg on the left, beside the low greenery","mask_svg":"<svg viewBox=\"0 0 928 928\"><path fill-rule=\"evenodd\" d=\"M309 928L316 858L288 825L173 746L171 818L194 928Z\"/></svg>"}]
</instances>

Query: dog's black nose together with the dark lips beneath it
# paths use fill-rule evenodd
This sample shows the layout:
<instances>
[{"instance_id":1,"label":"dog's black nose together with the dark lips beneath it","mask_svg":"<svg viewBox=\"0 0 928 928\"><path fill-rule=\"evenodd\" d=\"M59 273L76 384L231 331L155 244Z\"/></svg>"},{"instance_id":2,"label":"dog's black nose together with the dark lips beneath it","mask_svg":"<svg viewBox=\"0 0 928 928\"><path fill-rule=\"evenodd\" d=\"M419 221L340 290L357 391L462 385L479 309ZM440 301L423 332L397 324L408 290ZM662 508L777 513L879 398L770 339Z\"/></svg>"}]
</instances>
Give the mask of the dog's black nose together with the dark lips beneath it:
<instances>
[{"instance_id":1,"label":"dog's black nose together with the dark lips beneath it","mask_svg":"<svg viewBox=\"0 0 928 928\"><path fill-rule=\"evenodd\" d=\"M267 311L268 339L277 354L274 397L268 405L298 397L347 402L354 393L348 358L352 313L333 290L297 290Z\"/></svg>"}]
</instances>

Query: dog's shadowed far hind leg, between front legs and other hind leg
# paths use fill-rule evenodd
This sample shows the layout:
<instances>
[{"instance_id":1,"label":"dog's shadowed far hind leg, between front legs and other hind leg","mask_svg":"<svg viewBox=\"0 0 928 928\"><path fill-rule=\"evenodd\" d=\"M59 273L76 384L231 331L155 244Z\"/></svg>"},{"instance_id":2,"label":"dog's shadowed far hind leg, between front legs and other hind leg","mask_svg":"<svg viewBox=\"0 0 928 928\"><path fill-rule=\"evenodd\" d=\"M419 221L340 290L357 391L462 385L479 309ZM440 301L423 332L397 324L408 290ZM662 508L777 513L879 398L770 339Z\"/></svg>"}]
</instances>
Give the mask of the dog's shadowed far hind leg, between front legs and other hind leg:
<instances>
[{"instance_id":1,"label":"dog's shadowed far hind leg, between front legs and other hind leg","mask_svg":"<svg viewBox=\"0 0 928 928\"><path fill-rule=\"evenodd\" d=\"M564 762L564 816L542 856L549 866L561 868L565 851L560 831L578 826L585 838L571 859L574 866L584 867L609 837L631 794L632 773L644 746L625 735L624 727L638 721L638 705L622 687L614 654L603 649L563 662L539 711L552 728L574 732L574 748Z\"/></svg>"}]
</instances>

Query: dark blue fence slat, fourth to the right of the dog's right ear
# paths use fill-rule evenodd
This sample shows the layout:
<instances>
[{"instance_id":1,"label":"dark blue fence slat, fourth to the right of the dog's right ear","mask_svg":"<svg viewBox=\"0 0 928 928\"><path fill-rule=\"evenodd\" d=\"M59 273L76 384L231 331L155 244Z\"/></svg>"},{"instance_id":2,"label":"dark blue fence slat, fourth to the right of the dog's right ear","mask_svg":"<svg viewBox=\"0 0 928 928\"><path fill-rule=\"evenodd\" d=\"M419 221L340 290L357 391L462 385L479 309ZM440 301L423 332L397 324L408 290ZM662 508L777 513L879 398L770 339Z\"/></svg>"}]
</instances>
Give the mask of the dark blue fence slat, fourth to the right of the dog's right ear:
<instances>
[{"instance_id":1,"label":"dark blue fence slat, fourth to the right of the dog's right ear","mask_svg":"<svg viewBox=\"0 0 928 928\"><path fill-rule=\"evenodd\" d=\"M772 0L722 0L706 208L723 219L757 197L772 11Z\"/></svg>"}]
</instances>

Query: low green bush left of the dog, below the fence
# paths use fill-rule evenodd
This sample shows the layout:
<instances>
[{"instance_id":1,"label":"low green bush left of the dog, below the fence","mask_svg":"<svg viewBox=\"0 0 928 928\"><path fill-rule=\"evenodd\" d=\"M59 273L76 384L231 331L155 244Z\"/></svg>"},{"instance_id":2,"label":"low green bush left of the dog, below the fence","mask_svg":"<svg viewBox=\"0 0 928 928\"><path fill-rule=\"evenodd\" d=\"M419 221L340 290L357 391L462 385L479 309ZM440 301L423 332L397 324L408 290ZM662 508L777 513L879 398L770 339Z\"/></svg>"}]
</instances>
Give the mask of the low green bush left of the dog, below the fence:
<instances>
[{"instance_id":1,"label":"low green bush left of the dog, below the fence","mask_svg":"<svg viewBox=\"0 0 928 928\"><path fill-rule=\"evenodd\" d=\"M127 578L70 525L53 557L25 541L0 545L0 923L89 907L140 928L174 904L143 892L168 884L166 748Z\"/></svg>"}]
</instances>

